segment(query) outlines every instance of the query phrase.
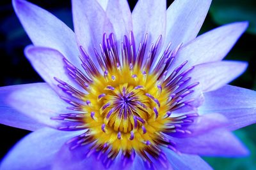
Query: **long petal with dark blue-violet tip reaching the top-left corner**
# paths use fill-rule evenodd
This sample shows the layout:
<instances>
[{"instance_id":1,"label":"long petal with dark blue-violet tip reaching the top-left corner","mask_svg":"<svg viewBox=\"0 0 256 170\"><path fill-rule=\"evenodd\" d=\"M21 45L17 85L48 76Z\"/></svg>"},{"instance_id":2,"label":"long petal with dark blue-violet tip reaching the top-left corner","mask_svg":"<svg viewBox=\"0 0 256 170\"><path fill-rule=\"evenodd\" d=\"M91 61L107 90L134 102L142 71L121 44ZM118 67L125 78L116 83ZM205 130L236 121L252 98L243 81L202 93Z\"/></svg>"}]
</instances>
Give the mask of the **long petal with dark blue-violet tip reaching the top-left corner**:
<instances>
[{"instance_id":1,"label":"long petal with dark blue-violet tip reaching the top-left corner","mask_svg":"<svg viewBox=\"0 0 256 170\"><path fill-rule=\"evenodd\" d=\"M13 0L13 8L36 46L54 48L75 66L81 67L74 32L48 11L27 1Z\"/></svg>"}]
</instances>

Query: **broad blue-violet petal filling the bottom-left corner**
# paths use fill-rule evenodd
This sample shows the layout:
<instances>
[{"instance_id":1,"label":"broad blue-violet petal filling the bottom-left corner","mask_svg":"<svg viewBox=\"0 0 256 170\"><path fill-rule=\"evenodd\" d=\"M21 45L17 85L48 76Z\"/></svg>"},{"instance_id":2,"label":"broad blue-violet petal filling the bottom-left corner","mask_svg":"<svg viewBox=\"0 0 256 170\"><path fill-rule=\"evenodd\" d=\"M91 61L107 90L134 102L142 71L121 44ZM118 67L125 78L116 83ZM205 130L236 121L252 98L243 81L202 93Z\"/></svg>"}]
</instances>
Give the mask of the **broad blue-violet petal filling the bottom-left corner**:
<instances>
[{"instance_id":1,"label":"broad blue-violet petal filling the bottom-left corner","mask_svg":"<svg viewBox=\"0 0 256 170\"><path fill-rule=\"evenodd\" d=\"M4 157L0 169L51 169L54 155L61 145L77 135L77 132L61 132L43 128L32 132Z\"/></svg>"}]
</instances>

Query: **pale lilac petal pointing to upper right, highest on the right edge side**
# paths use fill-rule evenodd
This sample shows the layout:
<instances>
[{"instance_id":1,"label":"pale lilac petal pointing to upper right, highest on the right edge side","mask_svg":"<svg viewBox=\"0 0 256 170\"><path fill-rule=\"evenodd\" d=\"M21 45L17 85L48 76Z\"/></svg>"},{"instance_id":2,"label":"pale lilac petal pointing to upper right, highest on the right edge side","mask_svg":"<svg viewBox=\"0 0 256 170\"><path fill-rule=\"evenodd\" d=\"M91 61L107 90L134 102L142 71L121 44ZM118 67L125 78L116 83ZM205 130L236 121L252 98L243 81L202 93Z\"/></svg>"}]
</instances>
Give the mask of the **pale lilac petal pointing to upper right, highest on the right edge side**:
<instances>
[{"instance_id":1,"label":"pale lilac petal pointing to upper right, highest on the right edge side","mask_svg":"<svg viewBox=\"0 0 256 170\"><path fill-rule=\"evenodd\" d=\"M173 61L173 67L179 66L184 60L189 61L186 67L222 60L246 27L248 27L248 22L236 22L198 36L180 48Z\"/></svg>"}]
</instances>

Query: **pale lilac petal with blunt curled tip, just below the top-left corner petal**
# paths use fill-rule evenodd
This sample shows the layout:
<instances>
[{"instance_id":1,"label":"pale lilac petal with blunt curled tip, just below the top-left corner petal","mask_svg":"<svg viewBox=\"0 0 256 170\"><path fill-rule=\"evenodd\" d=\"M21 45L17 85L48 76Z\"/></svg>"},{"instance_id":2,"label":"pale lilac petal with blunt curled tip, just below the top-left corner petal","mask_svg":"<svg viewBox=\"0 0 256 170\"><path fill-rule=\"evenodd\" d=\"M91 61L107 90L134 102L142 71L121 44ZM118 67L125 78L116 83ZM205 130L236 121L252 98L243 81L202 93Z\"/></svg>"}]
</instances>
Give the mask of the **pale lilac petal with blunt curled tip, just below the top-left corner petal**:
<instances>
[{"instance_id":1,"label":"pale lilac petal with blunt curled tip, just below the top-left corner petal","mask_svg":"<svg viewBox=\"0 0 256 170\"><path fill-rule=\"evenodd\" d=\"M59 83L54 80L54 77L65 81L72 87L83 92L83 89L68 76L67 69L65 69L65 62L63 61L65 57L57 50L38 46L27 46L25 55L40 76L49 83L52 89L58 92L58 94L62 96L66 95L57 87Z\"/></svg>"}]
</instances>

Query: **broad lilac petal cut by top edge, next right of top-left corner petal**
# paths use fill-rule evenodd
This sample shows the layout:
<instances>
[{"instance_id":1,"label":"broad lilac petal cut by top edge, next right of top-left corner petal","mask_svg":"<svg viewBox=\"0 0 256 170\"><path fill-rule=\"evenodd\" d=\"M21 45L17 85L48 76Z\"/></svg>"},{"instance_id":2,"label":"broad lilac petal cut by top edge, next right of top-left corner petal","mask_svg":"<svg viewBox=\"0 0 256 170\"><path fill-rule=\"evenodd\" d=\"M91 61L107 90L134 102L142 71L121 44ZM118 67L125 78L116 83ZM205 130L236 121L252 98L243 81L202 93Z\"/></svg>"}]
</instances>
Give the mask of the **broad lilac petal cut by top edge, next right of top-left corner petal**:
<instances>
[{"instance_id":1,"label":"broad lilac petal cut by top edge, next right of top-left corner petal","mask_svg":"<svg viewBox=\"0 0 256 170\"><path fill-rule=\"evenodd\" d=\"M72 14L78 45L84 47L99 67L94 48L100 52L103 34L114 33L113 25L96 0L73 0Z\"/></svg>"}]
</instances>

